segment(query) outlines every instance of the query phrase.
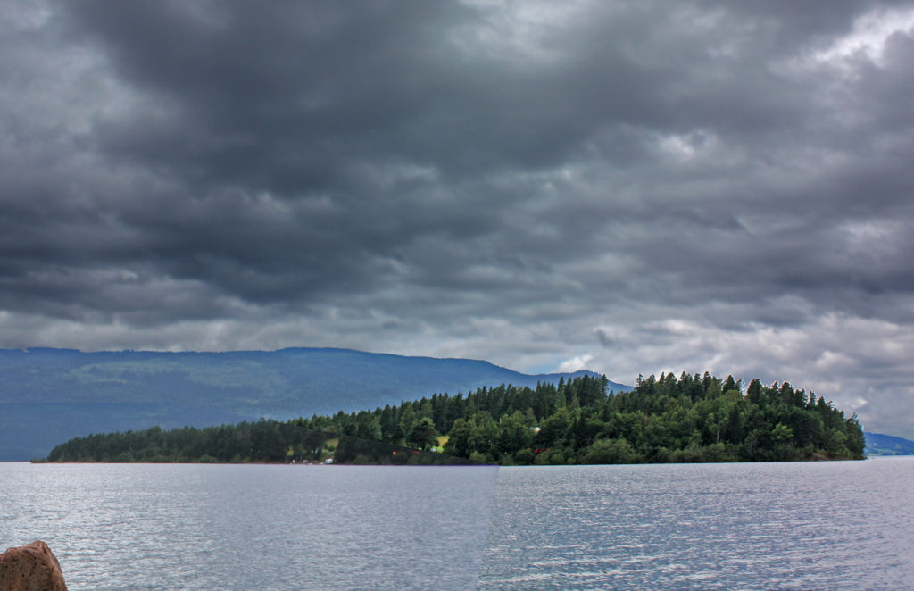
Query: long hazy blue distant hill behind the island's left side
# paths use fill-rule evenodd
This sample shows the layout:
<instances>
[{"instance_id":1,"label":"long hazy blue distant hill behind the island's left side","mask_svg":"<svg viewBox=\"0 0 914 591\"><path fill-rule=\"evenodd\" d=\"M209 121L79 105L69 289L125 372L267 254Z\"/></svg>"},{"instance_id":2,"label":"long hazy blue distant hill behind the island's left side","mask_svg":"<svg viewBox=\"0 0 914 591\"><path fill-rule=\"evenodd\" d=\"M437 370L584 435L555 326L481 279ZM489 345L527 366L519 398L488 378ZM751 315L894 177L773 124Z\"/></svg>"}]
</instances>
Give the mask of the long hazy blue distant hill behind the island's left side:
<instances>
[{"instance_id":1,"label":"long hazy blue distant hill behind the island's left side","mask_svg":"<svg viewBox=\"0 0 914 591\"><path fill-rule=\"evenodd\" d=\"M573 375L350 349L0 349L0 461L44 457L90 433L370 410L435 392L536 386ZM631 390L613 382L610 388Z\"/></svg>"}]
</instances>

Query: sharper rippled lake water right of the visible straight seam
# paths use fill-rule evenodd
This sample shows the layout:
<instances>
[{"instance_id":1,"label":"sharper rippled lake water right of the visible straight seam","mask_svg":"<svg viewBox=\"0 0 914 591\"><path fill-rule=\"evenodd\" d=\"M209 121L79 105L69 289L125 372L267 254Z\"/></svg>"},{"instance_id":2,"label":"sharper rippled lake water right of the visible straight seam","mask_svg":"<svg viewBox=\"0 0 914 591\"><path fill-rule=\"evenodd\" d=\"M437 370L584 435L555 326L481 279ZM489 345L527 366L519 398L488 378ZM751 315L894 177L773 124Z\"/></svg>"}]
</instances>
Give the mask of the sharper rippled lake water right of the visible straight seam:
<instances>
[{"instance_id":1,"label":"sharper rippled lake water right of the visible straight seam","mask_svg":"<svg viewBox=\"0 0 914 591\"><path fill-rule=\"evenodd\" d=\"M501 468L480 589L912 589L914 457Z\"/></svg>"}]
</instances>

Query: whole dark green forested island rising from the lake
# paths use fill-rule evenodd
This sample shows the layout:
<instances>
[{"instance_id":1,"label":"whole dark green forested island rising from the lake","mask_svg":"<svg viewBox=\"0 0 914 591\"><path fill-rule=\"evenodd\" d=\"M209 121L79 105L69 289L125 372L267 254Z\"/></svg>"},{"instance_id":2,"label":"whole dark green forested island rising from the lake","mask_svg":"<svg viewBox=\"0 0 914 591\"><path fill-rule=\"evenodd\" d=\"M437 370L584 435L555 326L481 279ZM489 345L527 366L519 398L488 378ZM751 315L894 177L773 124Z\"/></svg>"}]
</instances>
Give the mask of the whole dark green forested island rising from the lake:
<instances>
[{"instance_id":1,"label":"whole dark green forested island rising from the lake","mask_svg":"<svg viewBox=\"0 0 914 591\"><path fill-rule=\"evenodd\" d=\"M856 414L783 382L639 376L631 392L584 375L536 388L435 394L374 411L89 435L52 462L501 465L863 459Z\"/></svg>"}]
</instances>

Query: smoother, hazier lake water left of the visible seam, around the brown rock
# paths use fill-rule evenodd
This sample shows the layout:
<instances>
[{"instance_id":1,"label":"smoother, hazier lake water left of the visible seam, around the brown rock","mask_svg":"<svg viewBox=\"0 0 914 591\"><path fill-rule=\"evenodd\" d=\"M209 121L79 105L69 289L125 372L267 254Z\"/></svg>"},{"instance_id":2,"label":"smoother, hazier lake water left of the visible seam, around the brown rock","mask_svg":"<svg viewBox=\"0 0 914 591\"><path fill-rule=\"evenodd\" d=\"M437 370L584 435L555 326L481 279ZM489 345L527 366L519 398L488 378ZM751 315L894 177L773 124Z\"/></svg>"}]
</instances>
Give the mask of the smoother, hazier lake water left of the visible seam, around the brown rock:
<instances>
[{"instance_id":1,"label":"smoother, hazier lake water left of the visible seam, around the brown rock","mask_svg":"<svg viewBox=\"0 0 914 591\"><path fill-rule=\"evenodd\" d=\"M44 540L70 591L475 589L497 475L0 464L0 545Z\"/></svg>"}]
</instances>

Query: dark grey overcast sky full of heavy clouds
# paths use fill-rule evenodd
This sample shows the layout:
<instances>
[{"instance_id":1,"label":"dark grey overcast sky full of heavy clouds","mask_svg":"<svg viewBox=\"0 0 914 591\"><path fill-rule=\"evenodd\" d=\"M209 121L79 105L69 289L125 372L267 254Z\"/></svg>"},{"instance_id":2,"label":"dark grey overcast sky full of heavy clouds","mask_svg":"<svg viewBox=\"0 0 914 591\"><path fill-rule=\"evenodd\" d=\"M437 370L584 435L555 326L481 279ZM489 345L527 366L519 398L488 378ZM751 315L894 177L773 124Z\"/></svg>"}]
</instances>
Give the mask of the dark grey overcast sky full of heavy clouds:
<instances>
[{"instance_id":1,"label":"dark grey overcast sky full of heavy clouds","mask_svg":"<svg viewBox=\"0 0 914 591\"><path fill-rule=\"evenodd\" d=\"M0 347L789 381L914 437L914 2L0 4Z\"/></svg>"}]
</instances>

